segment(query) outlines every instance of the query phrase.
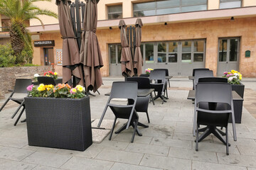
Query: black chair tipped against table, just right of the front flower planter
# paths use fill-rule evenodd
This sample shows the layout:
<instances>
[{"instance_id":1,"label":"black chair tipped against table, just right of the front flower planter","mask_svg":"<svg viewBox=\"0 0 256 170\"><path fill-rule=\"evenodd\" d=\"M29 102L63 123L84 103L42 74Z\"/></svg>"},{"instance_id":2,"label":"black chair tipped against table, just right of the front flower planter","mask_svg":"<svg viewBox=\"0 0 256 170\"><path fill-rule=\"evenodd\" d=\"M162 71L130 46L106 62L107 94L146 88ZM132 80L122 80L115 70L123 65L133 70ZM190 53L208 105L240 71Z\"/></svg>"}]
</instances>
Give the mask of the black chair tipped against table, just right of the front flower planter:
<instances>
[{"instance_id":1,"label":"black chair tipped against table, just right of the front flower planter","mask_svg":"<svg viewBox=\"0 0 256 170\"><path fill-rule=\"evenodd\" d=\"M131 142L134 141L135 132L137 132L137 125L139 123L139 115L135 111L135 103L137 103L137 94L138 94L138 84L137 82L132 81L116 81L112 84L112 89L110 92L110 97L107 101L107 105L102 113L98 127L102 123L104 115L107 111L107 107L110 107L114 113L114 123L110 132L109 140L111 140L112 133L114 131L114 125L117 121L117 118L128 119L128 122L116 133L121 132L124 129L128 129L130 125L134 128ZM118 105L111 103L113 98L127 98L127 105ZM139 134L139 133L138 133Z\"/></svg>"}]
</instances>

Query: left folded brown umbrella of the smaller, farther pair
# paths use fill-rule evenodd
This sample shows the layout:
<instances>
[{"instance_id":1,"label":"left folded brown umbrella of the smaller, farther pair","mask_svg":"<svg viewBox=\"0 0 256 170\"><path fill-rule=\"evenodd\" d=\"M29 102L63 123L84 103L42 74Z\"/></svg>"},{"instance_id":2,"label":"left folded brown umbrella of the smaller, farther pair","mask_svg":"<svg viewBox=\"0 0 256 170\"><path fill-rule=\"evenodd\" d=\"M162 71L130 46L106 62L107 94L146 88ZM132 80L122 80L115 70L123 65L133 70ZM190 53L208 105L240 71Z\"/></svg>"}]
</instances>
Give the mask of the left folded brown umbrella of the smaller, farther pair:
<instances>
[{"instance_id":1,"label":"left folded brown umbrella of the smaller, farther pair","mask_svg":"<svg viewBox=\"0 0 256 170\"><path fill-rule=\"evenodd\" d=\"M126 32L126 24L124 20L119 21L119 29L121 30L121 64L122 64L122 75L124 77L132 77L134 75L133 65L132 65L132 54L129 48Z\"/></svg>"}]
</instances>

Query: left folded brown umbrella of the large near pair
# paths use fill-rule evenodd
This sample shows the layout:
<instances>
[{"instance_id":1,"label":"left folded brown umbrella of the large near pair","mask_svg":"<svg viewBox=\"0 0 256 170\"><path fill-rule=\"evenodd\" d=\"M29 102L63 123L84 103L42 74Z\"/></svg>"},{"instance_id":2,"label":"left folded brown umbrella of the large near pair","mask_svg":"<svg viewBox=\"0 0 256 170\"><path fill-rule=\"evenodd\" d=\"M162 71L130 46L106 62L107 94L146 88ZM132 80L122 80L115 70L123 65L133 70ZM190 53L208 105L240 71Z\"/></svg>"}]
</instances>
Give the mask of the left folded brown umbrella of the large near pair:
<instances>
[{"instance_id":1,"label":"left folded brown umbrella of the large near pair","mask_svg":"<svg viewBox=\"0 0 256 170\"><path fill-rule=\"evenodd\" d=\"M75 84L83 86L82 69L78 66L80 64L78 42L75 39L68 6L70 2L70 0L56 0L60 34L63 36L63 83L68 82L73 75Z\"/></svg>"}]
</instances>

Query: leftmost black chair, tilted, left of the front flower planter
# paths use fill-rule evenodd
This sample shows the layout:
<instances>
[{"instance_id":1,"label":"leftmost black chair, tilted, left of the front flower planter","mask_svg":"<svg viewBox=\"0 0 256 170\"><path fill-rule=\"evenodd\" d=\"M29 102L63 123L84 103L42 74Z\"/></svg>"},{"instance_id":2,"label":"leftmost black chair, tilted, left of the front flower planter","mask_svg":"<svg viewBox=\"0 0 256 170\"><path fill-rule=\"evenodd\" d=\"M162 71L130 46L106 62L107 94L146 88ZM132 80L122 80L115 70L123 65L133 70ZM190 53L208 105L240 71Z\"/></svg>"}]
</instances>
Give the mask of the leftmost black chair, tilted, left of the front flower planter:
<instances>
[{"instance_id":1,"label":"leftmost black chair, tilted, left of the front flower planter","mask_svg":"<svg viewBox=\"0 0 256 170\"><path fill-rule=\"evenodd\" d=\"M6 106L6 104L11 100L19 104L18 108L14 112L14 115L11 116L11 118L14 118L14 116L18 113L18 111L21 109L23 106L21 113L18 115L18 118L16 119L16 122L14 125L17 125L18 120L21 118L21 115L23 111L25 110L25 104L24 104L24 98L28 96L28 91L27 91L27 86L32 84L31 79L16 79L15 81L15 86L14 86L14 91L12 91L11 95L7 100L4 102L3 106L0 108L0 112Z\"/></svg>"}]
</instances>

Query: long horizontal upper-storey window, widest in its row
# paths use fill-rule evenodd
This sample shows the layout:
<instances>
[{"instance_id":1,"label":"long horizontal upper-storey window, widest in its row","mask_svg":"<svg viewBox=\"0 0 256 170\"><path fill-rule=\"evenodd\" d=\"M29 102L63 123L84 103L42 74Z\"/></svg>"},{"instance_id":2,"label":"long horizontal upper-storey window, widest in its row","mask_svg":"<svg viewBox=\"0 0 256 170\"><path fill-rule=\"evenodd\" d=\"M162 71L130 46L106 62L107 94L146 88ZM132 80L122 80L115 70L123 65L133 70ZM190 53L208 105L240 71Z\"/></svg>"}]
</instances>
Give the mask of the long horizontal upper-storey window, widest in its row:
<instances>
[{"instance_id":1,"label":"long horizontal upper-storey window, widest in its row","mask_svg":"<svg viewBox=\"0 0 256 170\"><path fill-rule=\"evenodd\" d=\"M207 10L207 0L166 0L133 4L134 17Z\"/></svg>"}]
</instances>

